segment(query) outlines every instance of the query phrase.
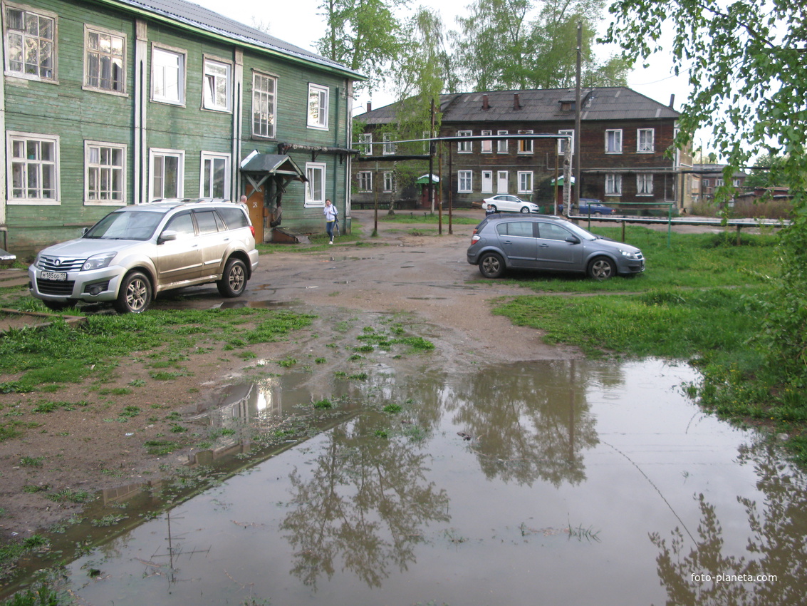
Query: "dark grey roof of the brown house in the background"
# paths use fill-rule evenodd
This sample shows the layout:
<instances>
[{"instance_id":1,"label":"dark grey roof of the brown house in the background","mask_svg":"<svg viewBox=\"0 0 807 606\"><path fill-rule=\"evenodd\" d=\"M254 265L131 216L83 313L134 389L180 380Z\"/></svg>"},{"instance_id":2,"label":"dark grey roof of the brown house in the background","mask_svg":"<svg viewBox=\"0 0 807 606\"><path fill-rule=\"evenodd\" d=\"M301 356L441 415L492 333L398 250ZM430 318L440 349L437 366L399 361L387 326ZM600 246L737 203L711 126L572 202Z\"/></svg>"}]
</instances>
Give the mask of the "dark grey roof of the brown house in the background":
<instances>
[{"instance_id":1,"label":"dark grey roof of the brown house in the background","mask_svg":"<svg viewBox=\"0 0 807 606\"><path fill-rule=\"evenodd\" d=\"M625 86L581 91L581 120L676 120L679 112ZM575 116L575 89L491 90L440 95L442 124L469 122L557 122ZM572 103L571 108L562 105ZM391 103L355 116L366 124L395 121L398 104ZM486 108L487 107L487 108Z\"/></svg>"}]
</instances>

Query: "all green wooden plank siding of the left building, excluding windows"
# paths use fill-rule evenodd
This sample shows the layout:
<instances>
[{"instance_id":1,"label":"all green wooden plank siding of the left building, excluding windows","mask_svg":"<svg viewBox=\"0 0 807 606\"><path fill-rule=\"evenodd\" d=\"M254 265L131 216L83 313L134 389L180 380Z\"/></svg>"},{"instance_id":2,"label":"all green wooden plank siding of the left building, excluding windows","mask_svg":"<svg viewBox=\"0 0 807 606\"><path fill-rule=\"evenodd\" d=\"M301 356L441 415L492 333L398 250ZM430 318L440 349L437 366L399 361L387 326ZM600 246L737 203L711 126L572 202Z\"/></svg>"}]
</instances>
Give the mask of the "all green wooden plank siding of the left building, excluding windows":
<instances>
[{"instance_id":1,"label":"all green wooden plank siding of the left building, excluding windows","mask_svg":"<svg viewBox=\"0 0 807 606\"><path fill-rule=\"evenodd\" d=\"M60 137L60 204L6 204L6 246L24 258L53 242L77 237L82 229L94 224L114 206L84 204L85 141L103 141L127 145L125 164L125 201L133 204L136 166L134 145L136 16L109 6L74 0L21 0L31 11L58 15L56 53L57 83L5 78L6 130ZM145 18L144 18L145 19ZM228 44L180 27L145 19L148 55L145 74L146 134L142 158L148 170L148 149L182 149L185 152L184 193L199 196L201 152L232 154L233 113L202 109L203 57L209 55L232 62L233 85L239 86L242 112L240 149L231 155L237 166L253 149L276 154L279 142L303 145L349 147L346 96L349 81L339 74L294 63L282 57L270 57L245 49L243 79L236 82L236 44ZM125 95L111 95L84 90L85 24L126 36ZM153 43L186 51L186 90L184 106L152 100L151 57ZM277 137L271 140L252 137L253 69L278 77ZM328 130L307 128L308 82L328 86ZM235 103L238 103L237 101ZM233 107L233 111L237 109ZM6 133L3 133L3 149ZM292 152L291 157L303 168L311 162L310 153ZM345 214L345 187L348 187L346 158L320 154L316 162L327 166L326 196ZM2 170L6 170L6 166ZM236 183L236 191L241 191ZM4 192L5 193L5 192ZM148 196L148 191L142 194ZM304 188L291 183L284 196L283 225L302 231L322 231L321 208L304 208ZM290 225L291 224L291 225Z\"/></svg>"}]
</instances>

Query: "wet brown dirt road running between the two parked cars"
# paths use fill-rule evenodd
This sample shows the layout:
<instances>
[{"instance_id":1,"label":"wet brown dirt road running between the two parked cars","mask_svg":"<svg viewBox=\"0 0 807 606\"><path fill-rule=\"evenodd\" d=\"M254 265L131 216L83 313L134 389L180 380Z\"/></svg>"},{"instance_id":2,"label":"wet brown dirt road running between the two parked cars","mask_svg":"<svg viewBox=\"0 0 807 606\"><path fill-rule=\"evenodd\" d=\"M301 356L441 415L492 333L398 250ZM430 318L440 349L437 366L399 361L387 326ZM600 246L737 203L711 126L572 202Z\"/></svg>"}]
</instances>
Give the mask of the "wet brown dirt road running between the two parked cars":
<instances>
[{"instance_id":1,"label":"wet brown dirt road running between the two parked cars","mask_svg":"<svg viewBox=\"0 0 807 606\"><path fill-rule=\"evenodd\" d=\"M459 214L482 217L479 210ZM353 221L357 230L370 234L373 213L355 212ZM360 245L337 238L337 243L324 251L290 248L288 252L262 255L245 296L237 300L223 303L211 285L158 299L155 307L293 306L316 314L318 319L311 330L300 331L288 342L254 347L256 356L269 360L281 360L295 351L321 351L323 343L344 337L335 328L340 320L358 317L361 322L362 314L369 318L389 313L401 314L408 318L408 324L427 333L424 337L436 346L433 360L447 369L485 360L579 356L573 348L547 346L535 330L514 327L506 318L490 314L491 300L523 291L479 280L479 271L465 258L472 229L473 225L454 225L454 233L448 234L446 220L443 235L437 236L434 225L382 221L378 237L366 238ZM89 401L89 406L33 415L40 423L35 430L26 431L23 438L0 441L0 535L29 536L80 508L53 503L44 496L48 491L69 488L92 492L154 480L165 473L166 466L181 464L188 452L163 457L145 452L144 440L160 436L161 429L165 431L159 423L149 423L148 414L128 419L125 425L111 421L126 406L142 410L159 406L160 415L197 413L215 401L216 390L222 385L238 381L250 364L235 356L223 356L216 349L194 354L186 377L157 382L149 379L141 358L123 360L115 381L104 385L103 390L78 384L65 386L56 394L62 402ZM333 367L343 361L329 360L316 370L332 375ZM138 379L145 385L134 393L108 395ZM6 413L14 414L15 410L31 410L42 398L42 393L0 394L0 404ZM32 461L39 462L33 465Z\"/></svg>"}]
</instances>

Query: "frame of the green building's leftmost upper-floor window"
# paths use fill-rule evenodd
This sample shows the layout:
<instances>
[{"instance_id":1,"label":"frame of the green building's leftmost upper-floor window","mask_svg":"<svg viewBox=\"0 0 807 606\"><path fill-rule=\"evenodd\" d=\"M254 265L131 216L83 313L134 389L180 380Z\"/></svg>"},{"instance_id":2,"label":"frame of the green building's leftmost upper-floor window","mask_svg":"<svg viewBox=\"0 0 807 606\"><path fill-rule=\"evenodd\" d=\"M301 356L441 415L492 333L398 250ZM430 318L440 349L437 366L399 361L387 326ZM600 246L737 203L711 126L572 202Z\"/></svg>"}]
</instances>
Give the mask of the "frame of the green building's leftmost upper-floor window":
<instances>
[{"instance_id":1,"label":"frame of the green building's leftmost upper-floor window","mask_svg":"<svg viewBox=\"0 0 807 606\"><path fill-rule=\"evenodd\" d=\"M2 15L2 23L4 27L3 31L3 44L5 44L5 56L6 56L6 76L13 76L15 78L25 78L27 80L36 80L39 82L56 82L57 81L57 64L58 64L58 48L56 48L56 43L59 40L59 18L56 13L51 13L48 11L40 11L37 9L36 11L31 11L27 6L21 6L18 4L13 3L6 3L3 2L2 9L5 11L5 15ZM20 11L23 13L23 21L25 24L23 25L24 29L11 29L9 27L10 19L8 16L8 11ZM28 33L27 29L27 19L31 17L36 17L37 19L37 35L34 36ZM52 22L51 24L51 31L50 37L42 36L41 35L41 23L44 19L48 19ZM19 40L19 44L15 42L12 44L12 39ZM37 49L37 63L36 63L36 74L31 74L28 72L28 65L26 65L25 54L26 48L31 48L32 45L36 45ZM19 48L19 61L12 61L12 47ZM48 51L49 47L49 51ZM47 61L45 65L43 64L42 57L48 56L49 52L49 60L50 65L47 65ZM15 69L12 67L12 63L19 63L19 69Z\"/></svg>"}]
</instances>

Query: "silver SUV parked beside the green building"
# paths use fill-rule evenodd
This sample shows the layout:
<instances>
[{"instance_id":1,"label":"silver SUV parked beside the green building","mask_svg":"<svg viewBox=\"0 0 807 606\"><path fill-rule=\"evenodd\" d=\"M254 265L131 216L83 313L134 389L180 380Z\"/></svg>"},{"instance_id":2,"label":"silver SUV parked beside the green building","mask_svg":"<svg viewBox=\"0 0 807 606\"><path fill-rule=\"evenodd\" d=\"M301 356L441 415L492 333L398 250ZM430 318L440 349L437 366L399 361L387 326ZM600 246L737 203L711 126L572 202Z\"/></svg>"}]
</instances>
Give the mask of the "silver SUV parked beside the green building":
<instances>
[{"instance_id":1,"label":"silver SUV parked beside the green building","mask_svg":"<svg viewBox=\"0 0 807 606\"><path fill-rule=\"evenodd\" d=\"M137 314L171 288L215 282L223 297L239 297L257 257L241 204L157 200L119 208L81 238L48 246L28 276L31 294L50 309L111 301Z\"/></svg>"}]
</instances>

